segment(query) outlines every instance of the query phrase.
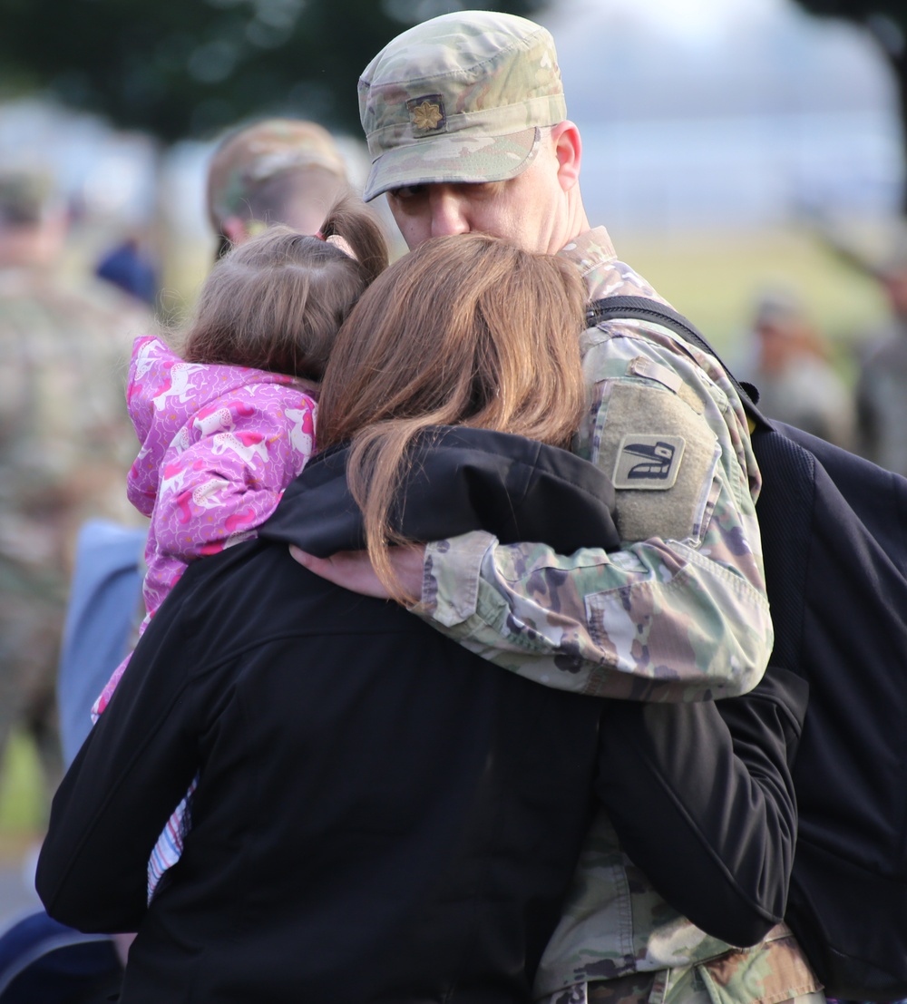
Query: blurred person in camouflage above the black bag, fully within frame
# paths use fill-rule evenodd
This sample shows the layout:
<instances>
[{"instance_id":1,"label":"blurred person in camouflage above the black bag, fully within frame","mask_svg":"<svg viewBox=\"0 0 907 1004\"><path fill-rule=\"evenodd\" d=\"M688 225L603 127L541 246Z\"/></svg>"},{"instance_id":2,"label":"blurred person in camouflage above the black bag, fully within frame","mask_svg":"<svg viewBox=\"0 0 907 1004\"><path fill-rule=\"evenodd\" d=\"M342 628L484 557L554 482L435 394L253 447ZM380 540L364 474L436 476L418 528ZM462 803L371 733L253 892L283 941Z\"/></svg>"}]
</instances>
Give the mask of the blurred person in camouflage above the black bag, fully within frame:
<instances>
[{"instance_id":1,"label":"blurred person in camouflage above the black bag, fully within frame","mask_svg":"<svg viewBox=\"0 0 907 1004\"><path fill-rule=\"evenodd\" d=\"M756 303L752 329L752 382L759 390L759 408L769 418L852 450L856 419L851 392L829 361L800 297L786 289L764 293Z\"/></svg>"}]
</instances>

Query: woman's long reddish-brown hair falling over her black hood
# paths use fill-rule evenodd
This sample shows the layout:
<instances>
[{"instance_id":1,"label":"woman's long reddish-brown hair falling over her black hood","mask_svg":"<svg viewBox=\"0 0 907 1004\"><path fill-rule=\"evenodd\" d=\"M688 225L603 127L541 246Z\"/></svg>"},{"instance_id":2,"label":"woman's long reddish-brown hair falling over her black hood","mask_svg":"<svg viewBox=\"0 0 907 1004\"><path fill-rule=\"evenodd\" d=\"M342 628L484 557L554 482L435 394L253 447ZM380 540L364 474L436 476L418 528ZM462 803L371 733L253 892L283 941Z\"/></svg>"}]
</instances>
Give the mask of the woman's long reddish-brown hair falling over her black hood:
<instances>
[{"instance_id":1,"label":"woman's long reddish-brown hair falling over her black hood","mask_svg":"<svg viewBox=\"0 0 907 1004\"><path fill-rule=\"evenodd\" d=\"M348 479L379 578L409 447L428 426L466 425L566 447L585 392L586 288L562 258L483 234L438 237L393 264L345 322L324 374L318 449L352 441Z\"/></svg>"}]
</instances>

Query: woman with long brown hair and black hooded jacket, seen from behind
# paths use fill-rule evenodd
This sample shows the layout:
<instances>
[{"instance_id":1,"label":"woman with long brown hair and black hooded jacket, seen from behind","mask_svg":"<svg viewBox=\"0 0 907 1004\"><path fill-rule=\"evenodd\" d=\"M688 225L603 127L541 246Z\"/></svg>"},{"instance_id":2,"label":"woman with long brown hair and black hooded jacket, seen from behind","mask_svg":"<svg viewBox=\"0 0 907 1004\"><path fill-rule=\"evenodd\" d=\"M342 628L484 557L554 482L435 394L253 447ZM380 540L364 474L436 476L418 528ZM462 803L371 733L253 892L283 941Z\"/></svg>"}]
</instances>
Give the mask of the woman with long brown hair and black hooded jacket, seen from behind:
<instances>
[{"instance_id":1,"label":"woman with long brown hair and black hooded jacket, seen from behind","mask_svg":"<svg viewBox=\"0 0 907 1004\"><path fill-rule=\"evenodd\" d=\"M528 1004L626 730L607 702L326 583L286 542L367 545L394 589L398 540L617 546L609 479L559 449L584 408L583 308L570 265L468 235L395 263L351 313L318 454L257 540L189 567L54 799L37 888L73 927L138 930L122 1004ZM742 769L713 712L697 706L684 762L718 749L729 784ZM789 814L783 764L760 764L747 811ZM149 906L149 847L195 771L183 857ZM761 820L750 843L770 842ZM688 828L698 891L722 865ZM739 923L737 893L722 916Z\"/></svg>"}]
</instances>

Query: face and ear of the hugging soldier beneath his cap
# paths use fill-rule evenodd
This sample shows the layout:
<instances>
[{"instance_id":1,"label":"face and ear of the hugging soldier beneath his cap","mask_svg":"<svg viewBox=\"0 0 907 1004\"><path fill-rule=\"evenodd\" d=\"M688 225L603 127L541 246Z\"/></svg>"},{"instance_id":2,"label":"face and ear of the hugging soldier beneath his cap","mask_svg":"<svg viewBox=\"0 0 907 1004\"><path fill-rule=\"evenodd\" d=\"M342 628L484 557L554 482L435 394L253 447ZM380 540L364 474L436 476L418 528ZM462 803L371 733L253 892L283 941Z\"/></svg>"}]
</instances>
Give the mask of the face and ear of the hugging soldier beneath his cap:
<instances>
[{"instance_id":1,"label":"face and ear of the hugging soldier beneath his cap","mask_svg":"<svg viewBox=\"0 0 907 1004\"><path fill-rule=\"evenodd\" d=\"M559 251L564 243L563 189L547 147L503 182L438 183L393 189L388 203L410 249L430 237L478 232L525 251Z\"/></svg>"}]
</instances>

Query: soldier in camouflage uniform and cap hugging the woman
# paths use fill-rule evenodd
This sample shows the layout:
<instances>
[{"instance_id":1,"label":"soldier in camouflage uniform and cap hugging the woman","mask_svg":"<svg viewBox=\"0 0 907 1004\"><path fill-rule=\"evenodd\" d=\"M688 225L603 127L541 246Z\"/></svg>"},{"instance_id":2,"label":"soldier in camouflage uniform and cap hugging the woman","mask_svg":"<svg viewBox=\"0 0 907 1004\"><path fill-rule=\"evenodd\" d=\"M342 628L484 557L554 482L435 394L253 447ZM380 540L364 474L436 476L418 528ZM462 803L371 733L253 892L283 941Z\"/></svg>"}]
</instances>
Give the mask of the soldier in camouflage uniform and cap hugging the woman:
<instances>
[{"instance_id":1,"label":"soldier in camouflage uniform and cap hugging the woman","mask_svg":"<svg viewBox=\"0 0 907 1004\"><path fill-rule=\"evenodd\" d=\"M360 107L373 158L365 197L388 193L411 248L485 231L559 251L581 268L591 300L660 299L586 217L580 133L538 25L481 11L418 25L366 68ZM590 408L574 448L614 477L623 549L563 556L475 532L399 548L398 575L438 630L547 686L673 701L744 693L765 669L772 630L760 479L740 401L717 360L658 325L590 328L582 350ZM658 447L668 461L636 465L640 448ZM362 554L296 556L332 581L385 594ZM783 925L742 952L707 937L634 868L604 815L535 994L557 1004L822 999Z\"/></svg>"}]
</instances>

